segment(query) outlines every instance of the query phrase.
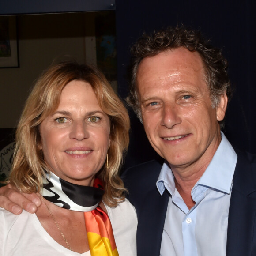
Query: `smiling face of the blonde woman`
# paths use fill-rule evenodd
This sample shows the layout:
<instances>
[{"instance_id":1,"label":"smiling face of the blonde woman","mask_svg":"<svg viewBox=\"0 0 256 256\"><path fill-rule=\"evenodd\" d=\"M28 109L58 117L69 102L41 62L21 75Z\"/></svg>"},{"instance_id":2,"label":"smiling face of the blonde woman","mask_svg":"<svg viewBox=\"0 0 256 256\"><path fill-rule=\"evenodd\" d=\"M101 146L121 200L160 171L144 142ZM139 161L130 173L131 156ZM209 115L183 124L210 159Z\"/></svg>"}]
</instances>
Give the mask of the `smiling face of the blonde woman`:
<instances>
[{"instance_id":1,"label":"smiling face of the blonde woman","mask_svg":"<svg viewBox=\"0 0 256 256\"><path fill-rule=\"evenodd\" d=\"M50 170L71 183L92 186L110 146L110 121L89 83L74 80L60 105L40 124L41 150Z\"/></svg>"}]
</instances>

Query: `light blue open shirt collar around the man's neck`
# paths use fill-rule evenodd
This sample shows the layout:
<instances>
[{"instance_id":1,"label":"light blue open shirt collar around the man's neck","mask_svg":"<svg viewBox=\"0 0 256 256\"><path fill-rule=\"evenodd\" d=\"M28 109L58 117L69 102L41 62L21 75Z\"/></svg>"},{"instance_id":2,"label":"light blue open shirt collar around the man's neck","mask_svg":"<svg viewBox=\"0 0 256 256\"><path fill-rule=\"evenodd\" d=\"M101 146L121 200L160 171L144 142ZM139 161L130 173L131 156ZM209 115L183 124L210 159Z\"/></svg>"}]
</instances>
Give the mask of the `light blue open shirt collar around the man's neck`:
<instances>
[{"instance_id":1,"label":"light blue open shirt collar around the man's neck","mask_svg":"<svg viewBox=\"0 0 256 256\"><path fill-rule=\"evenodd\" d=\"M225 193L230 193L233 174L237 163L237 154L223 132L221 132L221 135L221 143L195 187L197 185L203 185ZM161 195L165 189L167 189L171 195L173 195L175 191L174 176L166 161L162 166L156 185Z\"/></svg>"}]
</instances>

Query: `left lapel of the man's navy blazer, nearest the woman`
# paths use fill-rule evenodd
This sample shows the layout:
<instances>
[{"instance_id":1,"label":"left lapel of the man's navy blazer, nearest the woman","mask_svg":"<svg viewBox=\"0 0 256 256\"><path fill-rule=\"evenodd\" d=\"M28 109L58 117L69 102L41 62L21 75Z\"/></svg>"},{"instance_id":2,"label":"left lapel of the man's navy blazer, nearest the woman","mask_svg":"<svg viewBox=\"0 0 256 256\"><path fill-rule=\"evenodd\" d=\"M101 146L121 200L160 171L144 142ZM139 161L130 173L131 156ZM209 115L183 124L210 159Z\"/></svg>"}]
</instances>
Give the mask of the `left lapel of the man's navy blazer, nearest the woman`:
<instances>
[{"instance_id":1,"label":"left lapel of the man's navy blazer, nearest the woman","mask_svg":"<svg viewBox=\"0 0 256 256\"><path fill-rule=\"evenodd\" d=\"M137 253L138 256L159 256L169 193L165 190L161 196L155 188L146 198L138 216Z\"/></svg>"}]
</instances>

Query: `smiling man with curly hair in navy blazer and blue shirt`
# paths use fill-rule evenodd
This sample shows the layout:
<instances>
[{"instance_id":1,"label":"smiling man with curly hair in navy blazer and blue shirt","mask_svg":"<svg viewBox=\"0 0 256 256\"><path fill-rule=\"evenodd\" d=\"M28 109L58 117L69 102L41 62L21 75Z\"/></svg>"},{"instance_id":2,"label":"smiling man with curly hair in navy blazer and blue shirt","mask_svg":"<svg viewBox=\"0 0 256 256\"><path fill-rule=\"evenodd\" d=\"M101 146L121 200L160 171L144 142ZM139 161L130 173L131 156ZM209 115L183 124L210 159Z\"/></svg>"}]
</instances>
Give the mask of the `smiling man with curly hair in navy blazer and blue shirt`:
<instances>
[{"instance_id":1,"label":"smiling man with curly hair in navy blazer and blue shirt","mask_svg":"<svg viewBox=\"0 0 256 256\"><path fill-rule=\"evenodd\" d=\"M143 35L132 56L128 102L164 159L123 174L138 256L256 255L255 162L220 131L231 96L226 60L184 27Z\"/></svg>"}]
</instances>

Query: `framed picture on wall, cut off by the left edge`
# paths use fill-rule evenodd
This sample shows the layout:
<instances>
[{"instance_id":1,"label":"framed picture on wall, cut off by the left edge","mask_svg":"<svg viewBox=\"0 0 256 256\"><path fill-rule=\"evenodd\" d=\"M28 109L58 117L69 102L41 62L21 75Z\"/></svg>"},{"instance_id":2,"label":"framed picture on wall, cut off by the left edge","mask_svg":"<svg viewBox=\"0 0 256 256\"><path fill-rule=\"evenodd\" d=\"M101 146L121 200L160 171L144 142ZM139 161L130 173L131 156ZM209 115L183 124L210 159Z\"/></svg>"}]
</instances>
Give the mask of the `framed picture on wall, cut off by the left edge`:
<instances>
[{"instance_id":1,"label":"framed picture on wall, cut off by the left edge","mask_svg":"<svg viewBox=\"0 0 256 256\"><path fill-rule=\"evenodd\" d=\"M16 17L0 17L0 68L19 68Z\"/></svg>"}]
</instances>

